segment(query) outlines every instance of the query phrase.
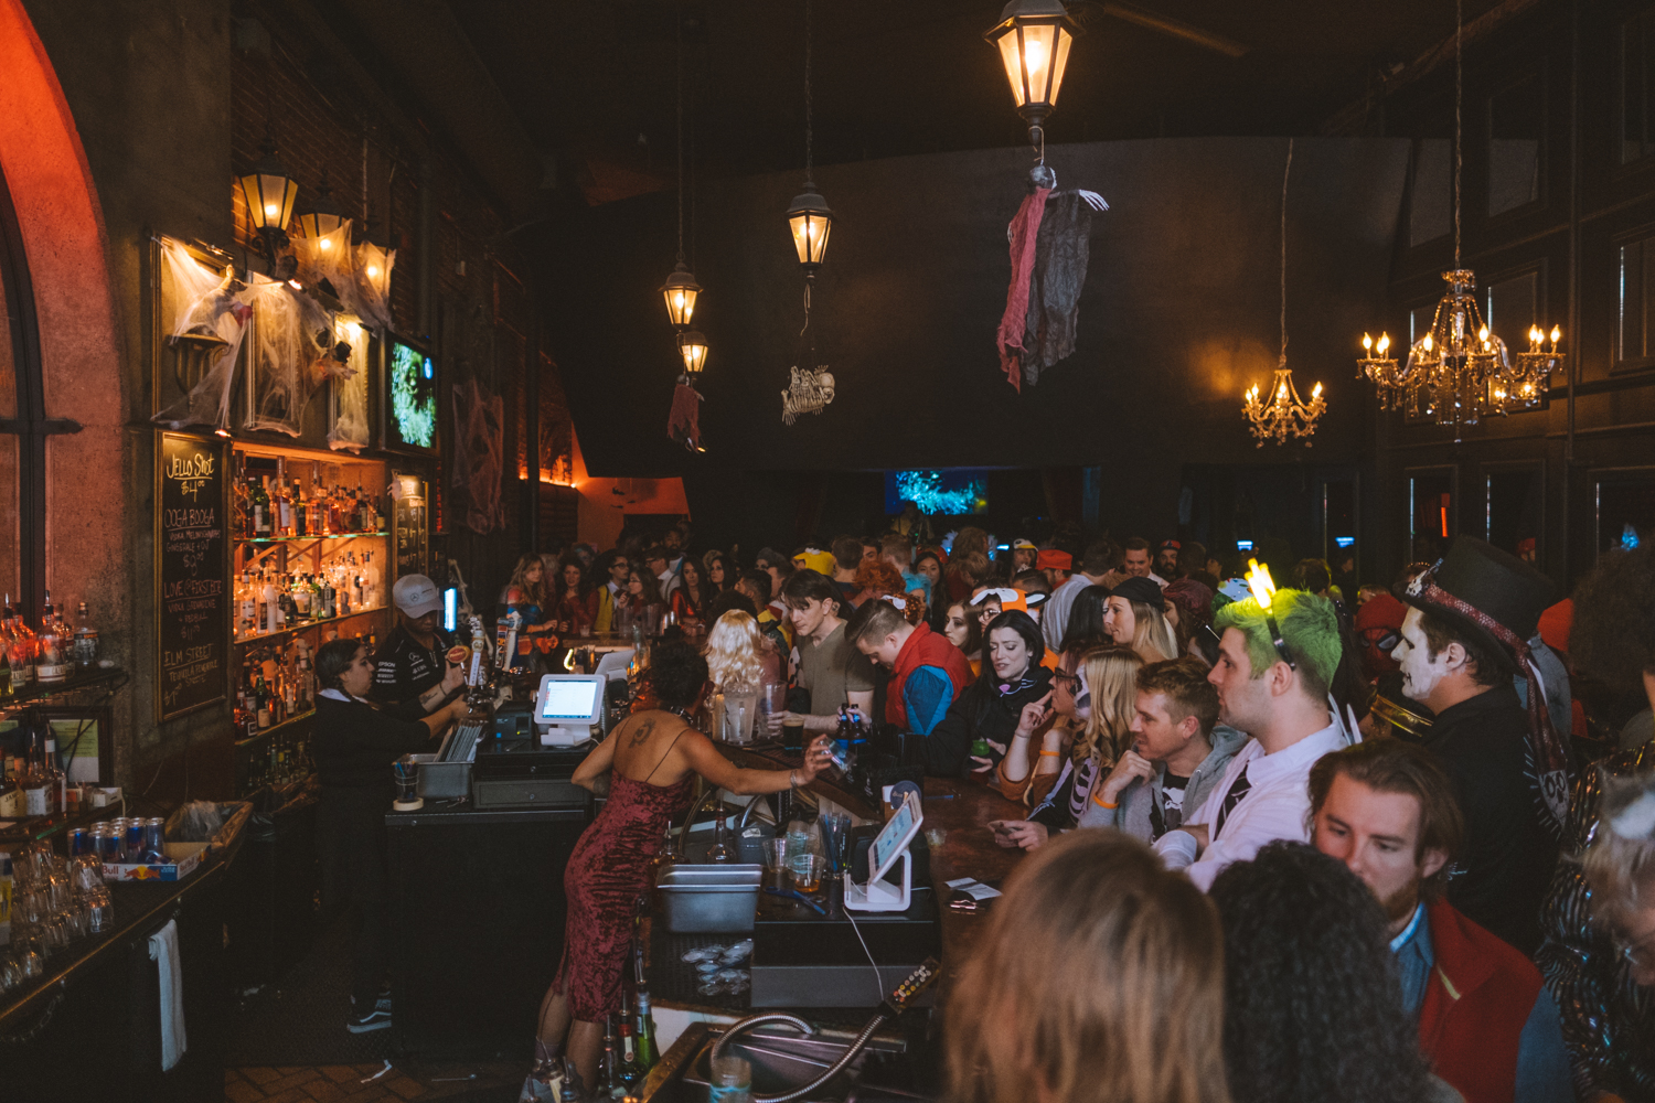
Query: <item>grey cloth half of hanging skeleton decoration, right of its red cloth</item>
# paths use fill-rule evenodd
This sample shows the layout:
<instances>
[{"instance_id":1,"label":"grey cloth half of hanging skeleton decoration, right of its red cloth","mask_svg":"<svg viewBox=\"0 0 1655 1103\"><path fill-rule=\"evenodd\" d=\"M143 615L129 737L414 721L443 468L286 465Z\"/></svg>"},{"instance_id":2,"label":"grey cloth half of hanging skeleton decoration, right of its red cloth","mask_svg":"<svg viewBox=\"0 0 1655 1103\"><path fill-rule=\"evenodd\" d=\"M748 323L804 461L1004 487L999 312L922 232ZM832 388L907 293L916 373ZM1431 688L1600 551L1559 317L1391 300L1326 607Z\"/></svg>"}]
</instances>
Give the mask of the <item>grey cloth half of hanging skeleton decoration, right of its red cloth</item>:
<instances>
[{"instance_id":1,"label":"grey cloth half of hanging skeleton decoration, right of its red cloth","mask_svg":"<svg viewBox=\"0 0 1655 1103\"><path fill-rule=\"evenodd\" d=\"M1034 241L1019 357L1029 387L1039 382L1043 370L1074 354L1094 210L1109 210L1094 192L1053 192L1046 197L1046 213Z\"/></svg>"}]
</instances>

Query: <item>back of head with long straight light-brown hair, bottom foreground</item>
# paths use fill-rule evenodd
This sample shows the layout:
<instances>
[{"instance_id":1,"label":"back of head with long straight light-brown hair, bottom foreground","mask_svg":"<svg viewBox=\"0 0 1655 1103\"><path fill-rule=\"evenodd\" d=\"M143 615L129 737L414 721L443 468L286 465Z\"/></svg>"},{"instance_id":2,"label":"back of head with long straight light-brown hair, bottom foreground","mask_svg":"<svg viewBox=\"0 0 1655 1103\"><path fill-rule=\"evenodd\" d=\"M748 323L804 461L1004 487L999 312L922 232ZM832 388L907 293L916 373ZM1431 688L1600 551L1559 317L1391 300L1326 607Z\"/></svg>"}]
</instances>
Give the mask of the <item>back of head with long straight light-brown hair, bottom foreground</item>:
<instances>
[{"instance_id":1,"label":"back of head with long straight light-brown hair, bottom foreground","mask_svg":"<svg viewBox=\"0 0 1655 1103\"><path fill-rule=\"evenodd\" d=\"M1119 832L1031 855L947 1009L958 1103L1230 1103L1223 933L1188 878Z\"/></svg>"}]
</instances>

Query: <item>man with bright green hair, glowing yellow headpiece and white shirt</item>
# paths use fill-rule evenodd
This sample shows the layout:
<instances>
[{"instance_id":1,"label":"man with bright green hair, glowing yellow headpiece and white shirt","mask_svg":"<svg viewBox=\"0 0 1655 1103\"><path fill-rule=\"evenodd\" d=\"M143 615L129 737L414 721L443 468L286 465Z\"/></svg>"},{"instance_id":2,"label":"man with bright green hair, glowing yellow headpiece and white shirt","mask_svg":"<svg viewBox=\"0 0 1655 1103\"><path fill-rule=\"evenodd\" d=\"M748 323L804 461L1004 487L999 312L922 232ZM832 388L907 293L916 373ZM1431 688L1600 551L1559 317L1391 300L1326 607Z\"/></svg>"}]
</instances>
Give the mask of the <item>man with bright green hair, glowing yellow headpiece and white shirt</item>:
<instances>
[{"instance_id":1,"label":"man with bright green hair, glowing yellow headpiece and white shirt","mask_svg":"<svg viewBox=\"0 0 1655 1103\"><path fill-rule=\"evenodd\" d=\"M1329 701L1339 666L1339 615L1326 597L1274 590L1218 610L1218 719L1250 739L1202 807L1155 843L1168 868L1206 891L1231 862L1276 838L1309 840L1307 781L1316 759L1349 739Z\"/></svg>"}]
</instances>

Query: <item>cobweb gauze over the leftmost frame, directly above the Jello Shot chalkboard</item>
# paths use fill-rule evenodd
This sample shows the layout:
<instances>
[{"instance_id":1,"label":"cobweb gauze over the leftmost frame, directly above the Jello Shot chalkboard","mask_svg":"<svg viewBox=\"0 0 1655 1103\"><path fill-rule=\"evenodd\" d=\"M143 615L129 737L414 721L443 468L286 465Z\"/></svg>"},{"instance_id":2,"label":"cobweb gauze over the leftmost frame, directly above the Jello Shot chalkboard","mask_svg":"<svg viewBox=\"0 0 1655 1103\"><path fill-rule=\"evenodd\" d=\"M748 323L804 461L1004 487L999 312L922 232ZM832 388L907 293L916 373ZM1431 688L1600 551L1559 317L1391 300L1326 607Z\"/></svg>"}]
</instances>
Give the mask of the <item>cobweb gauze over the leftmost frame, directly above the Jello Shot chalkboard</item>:
<instances>
[{"instance_id":1,"label":"cobweb gauze over the leftmost frame, directly above the Jello Shot chalkboard","mask_svg":"<svg viewBox=\"0 0 1655 1103\"><path fill-rule=\"evenodd\" d=\"M235 278L235 270L217 273L207 268L175 238L161 238L161 256L172 278L177 316L169 342L177 344L185 336L217 337L225 344L212 359L190 392L157 413L154 422L172 428L185 425L230 425L230 389L235 384L235 364L247 336L247 322L253 316L253 289Z\"/></svg>"}]
</instances>

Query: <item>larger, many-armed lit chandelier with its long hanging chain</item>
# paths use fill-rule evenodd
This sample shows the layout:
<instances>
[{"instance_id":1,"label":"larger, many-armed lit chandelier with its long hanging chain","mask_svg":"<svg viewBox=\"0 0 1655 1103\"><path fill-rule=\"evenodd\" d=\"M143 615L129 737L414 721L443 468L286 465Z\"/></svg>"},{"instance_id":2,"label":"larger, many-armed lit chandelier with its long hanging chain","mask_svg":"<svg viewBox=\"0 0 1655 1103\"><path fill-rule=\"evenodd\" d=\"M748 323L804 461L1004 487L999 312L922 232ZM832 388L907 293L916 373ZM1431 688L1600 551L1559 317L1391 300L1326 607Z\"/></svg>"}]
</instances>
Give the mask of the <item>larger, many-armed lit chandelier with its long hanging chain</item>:
<instances>
[{"instance_id":1,"label":"larger, many-armed lit chandelier with its long hanging chain","mask_svg":"<svg viewBox=\"0 0 1655 1103\"><path fill-rule=\"evenodd\" d=\"M1546 334L1529 327L1529 351L1514 359L1506 342L1490 331L1476 303L1476 275L1460 266L1460 169L1461 169L1461 101L1465 60L1461 56L1463 5L1455 3L1455 122L1453 122L1453 271L1443 273L1448 289L1432 316L1430 327L1415 339L1400 365L1387 356L1390 334L1382 332L1375 347L1362 334L1362 359L1357 379L1379 389L1382 410L1407 410L1410 417L1430 417L1438 425L1451 425L1455 440L1466 425L1483 417L1504 415L1539 405L1546 382L1562 359L1559 327Z\"/></svg>"}]
</instances>

